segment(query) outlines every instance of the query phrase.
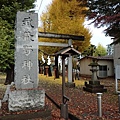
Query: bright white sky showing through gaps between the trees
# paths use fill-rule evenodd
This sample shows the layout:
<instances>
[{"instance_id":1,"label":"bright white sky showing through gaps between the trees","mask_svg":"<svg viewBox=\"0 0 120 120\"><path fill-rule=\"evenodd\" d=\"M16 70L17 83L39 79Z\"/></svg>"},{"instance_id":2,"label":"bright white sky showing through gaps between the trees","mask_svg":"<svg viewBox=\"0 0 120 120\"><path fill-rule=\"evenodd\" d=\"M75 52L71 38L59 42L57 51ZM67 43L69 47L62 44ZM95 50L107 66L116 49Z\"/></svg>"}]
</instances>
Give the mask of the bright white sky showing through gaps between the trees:
<instances>
[{"instance_id":1,"label":"bright white sky showing through gaps between the trees","mask_svg":"<svg viewBox=\"0 0 120 120\"><path fill-rule=\"evenodd\" d=\"M42 2L41 2L42 1ZM36 9L39 11L39 16L43 11L45 11L47 5L49 5L52 2L52 0L37 0L37 6ZM42 3L42 4L41 4ZM40 17L38 17L40 18ZM93 25L88 25L88 22L85 22L85 26L90 29L92 32L92 38L91 38L91 44L98 45L99 43L103 45L104 47L107 47L108 44L112 42L110 37L106 37L103 33L103 30L105 28L95 28Z\"/></svg>"}]
</instances>

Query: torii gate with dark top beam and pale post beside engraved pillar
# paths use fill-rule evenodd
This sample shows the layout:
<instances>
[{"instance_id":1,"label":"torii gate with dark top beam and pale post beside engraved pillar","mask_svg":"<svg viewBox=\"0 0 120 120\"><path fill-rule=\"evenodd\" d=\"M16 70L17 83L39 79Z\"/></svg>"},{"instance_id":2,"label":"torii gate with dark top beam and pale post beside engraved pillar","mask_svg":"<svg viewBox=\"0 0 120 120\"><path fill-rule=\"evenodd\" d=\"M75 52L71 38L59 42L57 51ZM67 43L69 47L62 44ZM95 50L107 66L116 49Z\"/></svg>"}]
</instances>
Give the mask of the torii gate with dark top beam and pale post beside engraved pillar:
<instances>
[{"instance_id":1,"label":"torii gate with dark top beam and pale post beside engraved pillar","mask_svg":"<svg viewBox=\"0 0 120 120\"><path fill-rule=\"evenodd\" d=\"M57 33L49 33L49 32L39 32L38 37L42 38L55 38L55 39L66 39L68 40L68 44L65 43L52 43L52 42L39 42L40 46L57 46L57 47L67 47L72 45L72 40L84 40L84 36L78 35L69 35L69 34L57 34ZM55 65L57 66L58 71L58 57L55 60ZM58 75L57 75L58 76ZM72 56L68 57L68 82L72 83Z\"/></svg>"}]
</instances>

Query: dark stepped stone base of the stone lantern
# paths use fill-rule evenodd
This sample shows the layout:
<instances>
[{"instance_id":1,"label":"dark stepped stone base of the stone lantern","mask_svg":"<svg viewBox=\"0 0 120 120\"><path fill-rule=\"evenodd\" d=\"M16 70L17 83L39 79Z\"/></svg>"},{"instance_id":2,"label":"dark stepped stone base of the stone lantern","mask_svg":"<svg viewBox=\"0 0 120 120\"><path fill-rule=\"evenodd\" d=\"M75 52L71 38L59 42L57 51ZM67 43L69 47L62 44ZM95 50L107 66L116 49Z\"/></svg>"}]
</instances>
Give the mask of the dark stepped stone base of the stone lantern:
<instances>
[{"instance_id":1,"label":"dark stepped stone base of the stone lantern","mask_svg":"<svg viewBox=\"0 0 120 120\"><path fill-rule=\"evenodd\" d=\"M104 88L104 85L100 85L100 81L89 81L89 84L85 82L85 87L83 87L84 91L91 93L103 93L107 92L107 89Z\"/></svg>"}]
</instances>

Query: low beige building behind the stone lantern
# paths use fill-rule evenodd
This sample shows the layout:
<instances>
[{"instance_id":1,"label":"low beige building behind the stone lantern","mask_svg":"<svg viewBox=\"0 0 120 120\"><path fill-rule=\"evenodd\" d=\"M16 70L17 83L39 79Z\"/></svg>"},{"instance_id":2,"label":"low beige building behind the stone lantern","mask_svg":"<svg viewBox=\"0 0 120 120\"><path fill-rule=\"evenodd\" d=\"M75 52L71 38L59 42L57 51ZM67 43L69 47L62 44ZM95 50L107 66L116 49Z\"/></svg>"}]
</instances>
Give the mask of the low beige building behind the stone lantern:
<instances>
[{"instance_id":1,"label":"low beige building behind the stone lantern","mask_svg":"<svg viewBox=\"0 0 120 120\"><path fill-rule=\"evenodd\" d=\"M106 77L113 77L114 76L114 66L113 66L113 56L100 56L100 57L93 57L93 56L85 56L80 59L80 74L81 76L88 76L92 75L90 71L91 66L90 63L93 62L93 59L98 61L98 71L97 77L99 78L106 78Z\"/></svg>"}]
</instances>

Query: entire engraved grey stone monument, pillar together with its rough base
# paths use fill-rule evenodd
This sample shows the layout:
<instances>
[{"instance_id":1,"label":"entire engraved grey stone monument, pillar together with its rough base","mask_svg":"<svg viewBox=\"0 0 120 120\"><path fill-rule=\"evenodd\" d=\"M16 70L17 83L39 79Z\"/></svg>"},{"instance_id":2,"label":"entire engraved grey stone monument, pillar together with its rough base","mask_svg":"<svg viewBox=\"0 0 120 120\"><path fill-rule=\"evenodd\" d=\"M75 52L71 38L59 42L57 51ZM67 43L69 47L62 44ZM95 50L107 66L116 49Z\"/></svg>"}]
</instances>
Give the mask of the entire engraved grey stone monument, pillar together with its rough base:
<instances>
[{"instance_id":1,"label":"entire engraved grey stone monument, pillar together with its rough base","mask_svg":"<svg viewBox=\"0 0 120 120\"><path fill-rule=\"evenodd\" d=\"M15 30L15 89L9 92L9 110L44 107L45 91L38 88L38 15L17 12Z\"/></svg>"}]
</instances>

